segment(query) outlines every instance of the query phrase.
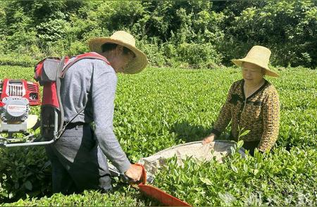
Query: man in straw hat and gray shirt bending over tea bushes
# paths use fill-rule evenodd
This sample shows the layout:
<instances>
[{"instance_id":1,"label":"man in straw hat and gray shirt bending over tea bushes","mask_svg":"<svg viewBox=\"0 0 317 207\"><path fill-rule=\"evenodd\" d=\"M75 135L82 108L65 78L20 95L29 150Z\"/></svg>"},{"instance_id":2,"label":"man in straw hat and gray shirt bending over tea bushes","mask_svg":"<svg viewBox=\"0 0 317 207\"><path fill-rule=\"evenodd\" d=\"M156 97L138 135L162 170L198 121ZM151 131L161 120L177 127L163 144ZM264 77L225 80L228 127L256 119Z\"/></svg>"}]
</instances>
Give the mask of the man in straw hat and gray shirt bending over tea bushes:
<instances>
[{"instance_id":1,"label":"man in straw hat and gray shirt bending over tea bushes","mask_svg":"<svg viewBox=\"0 0 317 207\"><path fill-rule=\"evenodd\" d=\"M135 38L124 31L90 39L89 48L106 59L75 62L61 82L64 116L66 123L71 122L61 138L46 147L53 192L108 191L111 177L107 159L133 182L142 175L142 168L128 161L113 133L113 101L116 73L139 73L147 65L147 56L135 47ZM85 110L75 116L81 108Z\"/></svg>"}]
</instances>

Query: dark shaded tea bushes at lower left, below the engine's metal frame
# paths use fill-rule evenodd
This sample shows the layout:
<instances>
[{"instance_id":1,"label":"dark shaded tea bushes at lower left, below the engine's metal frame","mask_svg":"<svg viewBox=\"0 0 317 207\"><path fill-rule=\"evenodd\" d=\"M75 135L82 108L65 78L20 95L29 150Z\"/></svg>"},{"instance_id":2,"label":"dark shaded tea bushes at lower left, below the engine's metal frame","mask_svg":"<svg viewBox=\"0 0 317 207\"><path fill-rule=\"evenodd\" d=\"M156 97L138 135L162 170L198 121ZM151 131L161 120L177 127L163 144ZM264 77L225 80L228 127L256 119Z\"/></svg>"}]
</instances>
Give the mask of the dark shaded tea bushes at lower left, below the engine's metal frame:
<instances>
[{"instance_id":1,"label":"dark shaded tea bushes at lower left, below the engine's metal frame","mask_svg":"<svg viewBox=\"0 0 317 207\"><path fill-rule=\"evenodd\" d=\"M51 192L51 169L43 147L1 149L0 199L44 196Z\"/></svg>"}]
</instances>

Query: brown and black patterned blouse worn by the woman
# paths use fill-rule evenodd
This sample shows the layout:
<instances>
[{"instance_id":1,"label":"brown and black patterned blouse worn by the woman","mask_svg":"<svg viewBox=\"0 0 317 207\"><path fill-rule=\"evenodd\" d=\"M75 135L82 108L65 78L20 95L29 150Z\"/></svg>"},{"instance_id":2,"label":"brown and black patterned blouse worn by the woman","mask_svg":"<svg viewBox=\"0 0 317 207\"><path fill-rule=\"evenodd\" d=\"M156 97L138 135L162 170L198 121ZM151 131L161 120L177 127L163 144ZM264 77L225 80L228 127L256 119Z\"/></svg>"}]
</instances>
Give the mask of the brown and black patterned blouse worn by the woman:
<instances>
[{"instance_id":1,"label":"brown and black patterned blouse worn by the woman","mask_svg":"<svg viewBox=\"0 0 317 207\"><path fill-rule=\"evenodd\" d=\"M259 144L259 151L272 148L278 139L280 125L280 101L275 87L267 80L261 88L247 98L244 106L244 80L234 82L228 92L227 100L221 108L218 119L213 126L213 134L219 136L231 120L231 134L235 141L239 137L239 129L250 130L240 137L244 142Z\"/></svg>"}]
</instances>

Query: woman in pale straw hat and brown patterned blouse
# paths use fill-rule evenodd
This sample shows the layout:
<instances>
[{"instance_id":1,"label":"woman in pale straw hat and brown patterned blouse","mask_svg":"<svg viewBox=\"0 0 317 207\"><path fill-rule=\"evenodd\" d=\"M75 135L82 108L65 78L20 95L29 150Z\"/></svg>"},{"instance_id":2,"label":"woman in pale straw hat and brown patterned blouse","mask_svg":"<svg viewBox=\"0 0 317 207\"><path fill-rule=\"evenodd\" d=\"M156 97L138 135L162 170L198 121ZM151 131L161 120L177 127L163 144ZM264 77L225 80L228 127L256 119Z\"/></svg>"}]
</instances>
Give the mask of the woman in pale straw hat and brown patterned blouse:
<instances>
[{"instance_id":1,"label":"woman in pale straw hat and brown patterned blouse","mask_svg":"<svg viewBox=\"0 0 317 207\"><path fill-rule=\"evenodd\" d=\"M242 129L250 130L241 136L244 149L251 154L254 149L268 151L278 138L280 103L275 87L264 79L264 75L278 77L268 68L271 51L264 46L253 46L246 57L232 60L242 68L242 80L234 82L227 100L213 125L211 134L203 144L213 142L231 120L231 139L238 141Z\"/></svg>"}]
</instances>

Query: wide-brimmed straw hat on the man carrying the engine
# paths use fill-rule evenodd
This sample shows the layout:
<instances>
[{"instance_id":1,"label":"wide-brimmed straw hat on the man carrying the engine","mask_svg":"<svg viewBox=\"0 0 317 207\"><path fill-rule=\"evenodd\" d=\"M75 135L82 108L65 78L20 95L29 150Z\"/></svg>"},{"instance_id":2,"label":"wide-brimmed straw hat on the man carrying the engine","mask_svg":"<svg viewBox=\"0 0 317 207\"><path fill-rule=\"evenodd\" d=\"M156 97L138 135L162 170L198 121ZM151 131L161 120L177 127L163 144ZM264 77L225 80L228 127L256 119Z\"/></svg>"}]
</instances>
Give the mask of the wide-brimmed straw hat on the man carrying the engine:
<instances>
[{"instance_id":1,"label":"wide-brimmed straw hat on the man carrying the engine","mask_svg":"<svg viewBox=\"0 0 317 207\"><path fill-rule=\"evenodd\" d=\"M135 47L135 38L125 31L114 32L111 37L99 37L89 40L89 49L99 54L102 53L101 45L105 43L114 43L125 46L130 49L135 58L124 68L123 73L139 73L147 66L147 56Z\"/></svg>"}]
</instances>

